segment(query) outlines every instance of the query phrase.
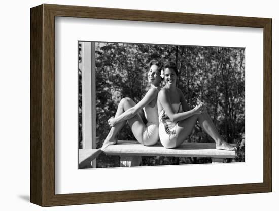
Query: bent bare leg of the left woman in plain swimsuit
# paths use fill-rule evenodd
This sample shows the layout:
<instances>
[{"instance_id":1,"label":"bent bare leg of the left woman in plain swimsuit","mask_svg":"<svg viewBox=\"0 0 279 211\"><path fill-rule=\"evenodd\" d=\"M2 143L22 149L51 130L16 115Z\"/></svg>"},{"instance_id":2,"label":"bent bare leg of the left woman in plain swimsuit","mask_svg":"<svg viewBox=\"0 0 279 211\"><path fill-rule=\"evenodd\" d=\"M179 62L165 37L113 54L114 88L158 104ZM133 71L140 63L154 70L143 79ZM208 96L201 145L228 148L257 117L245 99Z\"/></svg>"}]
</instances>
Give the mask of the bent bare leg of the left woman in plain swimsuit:
<instances>
[{"instance_id":1,"label":"bent bare leg of the left woman in plain swimsuit","mask_svg":"<svg viewBox=\"0 0 279 211\"><path fill-rule=\"evenodd\" d=\"M132 108L134 105L135 105L135 102L131 98L126 97L126 98L121 99L120 103L118 104L115 117L118 117L119 115L124 113L126 110ZM132 128L132 132L133 132L135 138L139 142L141 142L145 124L144 124L140 114L136 114L133 118L128 120L128 122L129 122L130 127ZM103 146L114 145L117 143L117 134L122 129L122 127L125 125L125 123L126 123L126 121L120 122L111 128L109 134L107 135L106 139L104 140ZM135 126L133 126L134 123L135 123Z\"/></svg>"}]
</instances>

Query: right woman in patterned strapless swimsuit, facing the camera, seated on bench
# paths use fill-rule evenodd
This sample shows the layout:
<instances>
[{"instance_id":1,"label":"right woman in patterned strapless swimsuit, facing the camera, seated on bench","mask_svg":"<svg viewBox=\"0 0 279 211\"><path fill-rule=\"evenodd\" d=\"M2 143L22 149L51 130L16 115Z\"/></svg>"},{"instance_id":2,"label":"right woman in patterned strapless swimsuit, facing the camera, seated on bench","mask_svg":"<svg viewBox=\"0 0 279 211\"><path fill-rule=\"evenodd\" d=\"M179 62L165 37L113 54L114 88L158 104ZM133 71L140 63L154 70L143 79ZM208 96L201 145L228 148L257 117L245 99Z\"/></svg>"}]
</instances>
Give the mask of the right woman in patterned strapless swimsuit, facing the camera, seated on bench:
<instances>
[{"instance_id":1,"label":"right woman in patterned strapless swimsuit, facing the camera, seated on bench","mask_svg":"<svg viewBox=\"0 0 279 211\"><path fill-rule=\"evenodd\" d=\"M216 142L216 149L235 150L218 133L210 116L200 103L190 109L183 93L176 87L178 71L175 63L167 62L163 69L166 85L158 94L159 136L165 148L180 146L189 136L198 121L201 128Z\"/></svg>"}]
</instances>

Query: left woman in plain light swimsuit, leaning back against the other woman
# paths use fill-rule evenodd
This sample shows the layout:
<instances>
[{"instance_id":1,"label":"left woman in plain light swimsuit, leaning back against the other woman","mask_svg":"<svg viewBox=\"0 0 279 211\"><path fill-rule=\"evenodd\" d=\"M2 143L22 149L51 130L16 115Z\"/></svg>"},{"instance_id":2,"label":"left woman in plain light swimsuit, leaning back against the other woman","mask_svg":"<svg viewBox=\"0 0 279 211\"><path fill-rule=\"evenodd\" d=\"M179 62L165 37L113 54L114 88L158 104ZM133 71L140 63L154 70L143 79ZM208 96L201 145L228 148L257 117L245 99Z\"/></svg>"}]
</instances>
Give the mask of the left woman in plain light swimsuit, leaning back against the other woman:
<instances>
[{"instance_id":1,"label":"left woman in plain light swimsuit, leaning back against the other woman","mask_svg":"<svg viewBox=\"0 0 279 211\"><path fill-rule=\"evenodd\" d=\"M160 68L161 65L158 61L152 60L150 62L147 74L150 89L140 102L136 104L128 97L121 99L115 117L111 117L108 120L112 128L104 140L102 148L117 143L117 134L124 126L126 120L139 143L151 146L158 142L157 96L160 82L162 81ZM147 123L145 124L145 122Z\"/></svg>"}]
</instances>

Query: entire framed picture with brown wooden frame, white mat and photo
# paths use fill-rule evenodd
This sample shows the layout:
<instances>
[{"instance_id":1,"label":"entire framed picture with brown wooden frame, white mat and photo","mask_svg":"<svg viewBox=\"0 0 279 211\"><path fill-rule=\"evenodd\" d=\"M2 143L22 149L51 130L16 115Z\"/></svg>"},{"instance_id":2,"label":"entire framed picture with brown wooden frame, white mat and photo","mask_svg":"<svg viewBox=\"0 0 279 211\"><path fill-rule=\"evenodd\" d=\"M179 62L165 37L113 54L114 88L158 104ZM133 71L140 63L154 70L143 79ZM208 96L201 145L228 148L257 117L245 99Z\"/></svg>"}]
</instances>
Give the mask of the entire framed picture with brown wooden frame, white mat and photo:
<instances>
[{"instance_id":1,"label":"entire framed picture with brown wooden frame, white mat and photo","mask_svg":"<svg viewBox=\"0 0 279 211\"><path fill-rule=\"evenodd\" d=\"M32 203L272 191L271 19L44 4L30 27Z\"/></svg>"}]
</instances>

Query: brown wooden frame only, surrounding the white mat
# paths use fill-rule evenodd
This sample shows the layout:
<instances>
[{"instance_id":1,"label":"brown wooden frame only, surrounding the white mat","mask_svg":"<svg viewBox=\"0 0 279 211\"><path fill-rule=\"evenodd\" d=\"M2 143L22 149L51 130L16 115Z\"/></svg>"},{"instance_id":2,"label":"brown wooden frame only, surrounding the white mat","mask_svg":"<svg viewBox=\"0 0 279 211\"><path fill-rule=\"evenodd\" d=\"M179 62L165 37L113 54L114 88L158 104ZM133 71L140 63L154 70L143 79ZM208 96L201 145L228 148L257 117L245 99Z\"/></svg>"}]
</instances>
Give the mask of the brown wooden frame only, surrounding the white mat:
<instances>
[{"instance_id":1,"label":"brown wooden frame only, surrounding the white mat","mask_svg":"<svg viewBox=\"0 0 279 211\"><path fill-rule=\"evenodd\" d=\"M171 199L272 191L272 21L204 15L43 4L31 8L30 201L40 206ZM55 194L55 17L79 17L263 28L263 182L129 191Z\"/></svg>"}]
</instances>

